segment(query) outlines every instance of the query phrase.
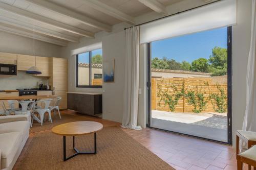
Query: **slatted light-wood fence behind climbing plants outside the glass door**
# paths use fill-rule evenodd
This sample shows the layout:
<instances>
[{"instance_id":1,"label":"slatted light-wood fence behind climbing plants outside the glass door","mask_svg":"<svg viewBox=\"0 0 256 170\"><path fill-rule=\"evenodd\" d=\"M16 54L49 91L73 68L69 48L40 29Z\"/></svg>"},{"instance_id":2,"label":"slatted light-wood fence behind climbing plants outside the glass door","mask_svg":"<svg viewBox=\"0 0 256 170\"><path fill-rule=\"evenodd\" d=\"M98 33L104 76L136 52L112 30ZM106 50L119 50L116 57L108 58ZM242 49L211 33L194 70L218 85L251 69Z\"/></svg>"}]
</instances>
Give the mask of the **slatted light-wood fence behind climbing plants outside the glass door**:
<instances>
[{"instance_id":1,"label":"slatted light-wood fence behind climbing plants outside the glass door","mask_svg":"<svg viewBox=\"0 0 256 170\"><path fill-rule=\"evenodd\" d=\"M205 97L208 97L210 93L220 93L217 88L217 83L212 82L212 78L152 78L152 110L170 112L168 105L166 105L160 97L157 97L159 88L163 91L168 90L169 94L174 94L174 90L168 88L170 84L174 85L178 92L181 91L183 84L185 92L198 88L199 91L204 93ZM218 85L220 88L224 89L227 95L227 83L218 83ZM175 112L193 112L193 108L194 107L189 105L186 99L182 97L175 107ZM202 112L215 112L210 101L207 102L206 109Z\"/></svg>"}]
</instances>

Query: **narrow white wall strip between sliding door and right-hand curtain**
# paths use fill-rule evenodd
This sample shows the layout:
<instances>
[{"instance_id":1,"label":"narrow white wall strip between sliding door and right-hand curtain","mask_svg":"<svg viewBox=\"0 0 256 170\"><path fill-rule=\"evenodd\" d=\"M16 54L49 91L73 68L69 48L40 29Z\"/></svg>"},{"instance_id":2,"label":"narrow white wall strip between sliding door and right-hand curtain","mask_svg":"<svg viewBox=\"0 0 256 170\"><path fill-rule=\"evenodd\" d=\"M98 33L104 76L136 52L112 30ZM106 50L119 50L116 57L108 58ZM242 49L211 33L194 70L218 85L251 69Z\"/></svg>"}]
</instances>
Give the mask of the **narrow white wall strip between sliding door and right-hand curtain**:
<instances>
[{"instance_id":1,"label":"narrow white wall strip between sliding door and right-hand curtain","mask_svg":"<svg viewBox=\"0 0 256 170\"><path fill-rule=\"evenodd\" d=\"M232 40L232 125L233 146L236 130L241 130L245 113L245 83L250 50L251 0L238 0L237 26L233 26Z\"/></svg>"}]
</instances>

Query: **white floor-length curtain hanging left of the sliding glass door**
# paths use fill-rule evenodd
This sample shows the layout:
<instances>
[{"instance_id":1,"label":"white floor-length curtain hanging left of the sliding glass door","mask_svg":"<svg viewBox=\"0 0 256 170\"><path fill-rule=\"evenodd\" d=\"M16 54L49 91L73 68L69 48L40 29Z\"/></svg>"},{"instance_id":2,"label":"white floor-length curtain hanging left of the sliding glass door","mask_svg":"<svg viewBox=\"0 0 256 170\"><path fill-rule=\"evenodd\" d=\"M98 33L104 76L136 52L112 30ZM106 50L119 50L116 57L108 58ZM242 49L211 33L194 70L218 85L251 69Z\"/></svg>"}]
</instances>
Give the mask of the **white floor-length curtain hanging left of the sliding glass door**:
<instances>
[{"instance_id":1,"label":"white floor-length curtain hanging left of the sliding glass door","mask_svg":"<svg viewBox=\"0 0 256 170\"><path fill-rule=\"evenodd\" d=\"M139 101L139 27L125 30L125 72L122 127L141 130L138 122Z\"/></svg>"}]
</instances>

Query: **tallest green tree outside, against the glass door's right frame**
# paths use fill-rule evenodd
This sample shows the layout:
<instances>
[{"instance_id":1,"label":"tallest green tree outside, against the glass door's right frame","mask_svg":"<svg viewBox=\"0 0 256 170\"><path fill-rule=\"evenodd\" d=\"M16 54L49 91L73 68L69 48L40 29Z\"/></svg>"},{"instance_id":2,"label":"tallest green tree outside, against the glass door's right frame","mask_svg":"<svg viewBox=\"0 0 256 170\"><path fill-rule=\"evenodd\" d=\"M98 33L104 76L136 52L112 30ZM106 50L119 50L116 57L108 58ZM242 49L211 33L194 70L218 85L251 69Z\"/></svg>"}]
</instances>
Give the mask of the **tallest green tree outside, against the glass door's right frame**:
<instances>
[{"instance_id":1,"label":"tallest green tree outside, against the glass door's right frame","mask_svg":"<svg viewBox=\"0 0 256 170\"><path fill-rule=\"evenodd\" d=\"M211 76L223 76L227 74L227 49L214 47L209 57L209 71Z\"/></svg>"}]
</instances>

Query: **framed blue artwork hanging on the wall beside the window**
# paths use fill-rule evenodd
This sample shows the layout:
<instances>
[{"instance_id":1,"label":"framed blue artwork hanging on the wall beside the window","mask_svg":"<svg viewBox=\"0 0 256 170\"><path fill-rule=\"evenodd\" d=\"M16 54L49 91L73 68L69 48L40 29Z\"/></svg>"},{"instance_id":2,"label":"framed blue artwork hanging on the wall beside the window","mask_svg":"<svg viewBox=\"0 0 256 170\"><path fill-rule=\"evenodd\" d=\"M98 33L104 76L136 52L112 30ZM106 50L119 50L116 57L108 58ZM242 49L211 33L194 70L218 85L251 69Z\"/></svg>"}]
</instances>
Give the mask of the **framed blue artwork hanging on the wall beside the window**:
<instances>
[{"instance_id":1,"label":"framed blue artwork hanging on the wall beside the window","mask_svg":"<svg viewBox=\"0 0 256 170\"><path fill-rule=\"evenodd\" d=\"M103 62L103 81L106 83L115 82L115 59Z\"/></svg>"}]
</instances>

